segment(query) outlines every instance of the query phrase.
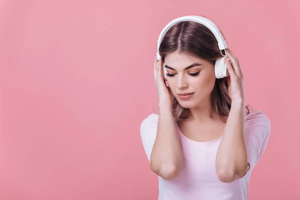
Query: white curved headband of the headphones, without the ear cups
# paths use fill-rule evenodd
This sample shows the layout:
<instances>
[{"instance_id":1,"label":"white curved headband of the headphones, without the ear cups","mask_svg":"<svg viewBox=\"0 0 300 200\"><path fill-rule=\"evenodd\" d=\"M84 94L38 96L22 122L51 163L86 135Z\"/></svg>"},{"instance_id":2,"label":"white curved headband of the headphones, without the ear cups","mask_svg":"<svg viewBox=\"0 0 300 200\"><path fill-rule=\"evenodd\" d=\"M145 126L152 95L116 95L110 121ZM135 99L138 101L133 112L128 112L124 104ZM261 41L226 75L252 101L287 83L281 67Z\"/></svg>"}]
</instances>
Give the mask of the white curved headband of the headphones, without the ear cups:
<instances>
[{"instance_id":1,"label":"white curved headband of the headphones, without the ear cups","mask_svg":"<svg viewBox=\"0 0 300 200\"><path fill-rule=\"evenodd\" d=\"M178 18L175 18L171 20L160 32L158 40L157 40L157 52L156 52L156 57L159 60L161 57L159 55L159 45L161 42L161 38L163 38L164 34L166 31L175 23L180 22L180 21L195 21L198 22L202 25L205 25L207 28L210 29L210 31L213 33L214 37L217 40L217 45L220 50L227 48L227 43L223 38L223 35L217 28L217 26L209 19L203 17L203 16L198 16L198 15L186 15L186 16L181 16Z\"/></svg>"}]
</instances>

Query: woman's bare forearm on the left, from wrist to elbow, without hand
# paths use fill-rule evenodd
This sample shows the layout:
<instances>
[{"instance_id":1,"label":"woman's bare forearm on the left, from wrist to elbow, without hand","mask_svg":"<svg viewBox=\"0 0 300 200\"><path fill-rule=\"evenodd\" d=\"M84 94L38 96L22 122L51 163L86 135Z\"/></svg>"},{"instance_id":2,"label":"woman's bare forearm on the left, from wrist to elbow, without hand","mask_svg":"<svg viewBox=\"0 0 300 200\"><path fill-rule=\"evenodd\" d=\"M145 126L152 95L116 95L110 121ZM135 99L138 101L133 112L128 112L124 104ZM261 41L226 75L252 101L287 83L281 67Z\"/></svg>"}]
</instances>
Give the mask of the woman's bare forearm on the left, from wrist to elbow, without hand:
<instances>
[{"instance_id":1,"label":"woman's bare forearm on the left, from wrist to elbow, without hand","mask_svg":"<svg viewBox=\"0 0 300 200\"><path fill-rule=\"evenodd\" d=\"M150 168L164 179L178 176L182 165L182 153L172 105L160 101L157 133L150 157ZM164 103L165 102L165 103Z\"/></svg>"}]
</instances>

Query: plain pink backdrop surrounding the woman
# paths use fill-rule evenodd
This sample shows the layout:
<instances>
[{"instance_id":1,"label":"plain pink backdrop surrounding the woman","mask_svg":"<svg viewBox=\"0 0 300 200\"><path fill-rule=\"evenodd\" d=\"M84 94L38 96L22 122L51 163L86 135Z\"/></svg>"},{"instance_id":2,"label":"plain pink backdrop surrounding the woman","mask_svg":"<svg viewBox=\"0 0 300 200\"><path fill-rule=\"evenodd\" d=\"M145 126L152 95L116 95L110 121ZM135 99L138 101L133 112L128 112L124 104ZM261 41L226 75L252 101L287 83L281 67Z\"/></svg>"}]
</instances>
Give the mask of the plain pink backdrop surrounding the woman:
<instances>
[{"instance_id":1,"label":"plain pink backdrop surrounding the woman","mask_svg":"<svg viewBox=\"0 0 300 200\"><path fill-rule=\"evenodd\" d=\"M300 199L298 0L0 0L0 199L157 199L140 140L171 19L210 18L271 121L250 200Z\"/></svg>"}]
</instances>

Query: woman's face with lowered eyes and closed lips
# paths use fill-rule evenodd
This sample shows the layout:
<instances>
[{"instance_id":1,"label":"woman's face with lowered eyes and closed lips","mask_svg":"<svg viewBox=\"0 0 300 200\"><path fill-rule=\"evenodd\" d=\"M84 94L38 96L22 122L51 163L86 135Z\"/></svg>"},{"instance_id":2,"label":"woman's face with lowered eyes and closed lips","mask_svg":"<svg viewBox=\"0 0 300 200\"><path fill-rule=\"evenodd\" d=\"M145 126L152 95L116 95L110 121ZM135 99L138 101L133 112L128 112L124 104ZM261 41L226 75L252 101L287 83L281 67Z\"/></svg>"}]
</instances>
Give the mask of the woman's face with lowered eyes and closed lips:
<instances>
[{"instance_id":1,"label":"woman's face with lowered eyes and closed lips","mask_svg":"<svg viewBox=\"0 0 300 200\"><path fill-rule=\"evenodd\" d=\"M168 53L164 57L167 83L184 108L197 107L207 100L214 82L214 66L208 61L190 54ZM192 93L180 95L180 93Z\"/></svg>"}]
</instances>

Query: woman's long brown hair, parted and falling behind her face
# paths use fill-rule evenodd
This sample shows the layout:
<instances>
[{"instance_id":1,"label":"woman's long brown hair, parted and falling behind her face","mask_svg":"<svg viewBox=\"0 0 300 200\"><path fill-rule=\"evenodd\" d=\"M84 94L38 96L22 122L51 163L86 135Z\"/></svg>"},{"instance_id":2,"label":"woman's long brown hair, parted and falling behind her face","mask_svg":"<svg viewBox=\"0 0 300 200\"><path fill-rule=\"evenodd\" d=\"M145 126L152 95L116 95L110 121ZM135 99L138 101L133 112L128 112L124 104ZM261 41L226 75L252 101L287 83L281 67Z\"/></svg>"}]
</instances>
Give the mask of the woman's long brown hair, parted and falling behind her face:
<instances>
[{"instance_id":1,"label":"woman's long brown hair, parted and falling behind her face","mask_svg":"<svg viewBox=\"0 0 300 200\"><path fill-rule=\"evenodd\" d=\"M223 35L222 32L221 34ZM177 22L163 36L159 45L162 61L164 62L164 57L168 53L175 51L192 54L209 61L213 65L217 58L222 57L213 33L206 26L194 21ZM224 50L222 50L222 54L225 54ZM170 91L169 87L168 90ZM231 107L231 99L228 95L228 84L225 78L215 79L210 103L213 110L226 122ZM248 114L248 105L246 105L246 109ZM189 109L183 108L174 98L173 116L175 121L179 118L187 118L188 114Z\"/></svg>"}]
</instances>

